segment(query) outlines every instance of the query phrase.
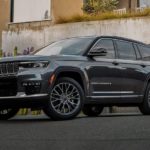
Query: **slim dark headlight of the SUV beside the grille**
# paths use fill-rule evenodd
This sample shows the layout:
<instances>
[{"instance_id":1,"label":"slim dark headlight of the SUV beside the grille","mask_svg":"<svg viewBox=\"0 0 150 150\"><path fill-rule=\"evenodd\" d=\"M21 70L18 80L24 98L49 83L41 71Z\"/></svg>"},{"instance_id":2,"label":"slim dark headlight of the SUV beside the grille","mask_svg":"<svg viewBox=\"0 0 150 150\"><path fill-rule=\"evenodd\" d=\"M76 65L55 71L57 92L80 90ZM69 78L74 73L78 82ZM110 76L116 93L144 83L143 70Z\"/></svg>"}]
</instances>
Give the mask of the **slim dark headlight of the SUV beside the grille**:
<instances>
[{"instance_id":1,"label":"slim dark headlight of the SUV beside the grille","mask_svg":"<svg viewBox=\"0 0 150 150\"><path fill-rule=\"evenodd\" d=\"M31 62L20 62L19 69L26 68L46 68L49 65L48 61L31 61Z\"/></svg>"}]
</instances>

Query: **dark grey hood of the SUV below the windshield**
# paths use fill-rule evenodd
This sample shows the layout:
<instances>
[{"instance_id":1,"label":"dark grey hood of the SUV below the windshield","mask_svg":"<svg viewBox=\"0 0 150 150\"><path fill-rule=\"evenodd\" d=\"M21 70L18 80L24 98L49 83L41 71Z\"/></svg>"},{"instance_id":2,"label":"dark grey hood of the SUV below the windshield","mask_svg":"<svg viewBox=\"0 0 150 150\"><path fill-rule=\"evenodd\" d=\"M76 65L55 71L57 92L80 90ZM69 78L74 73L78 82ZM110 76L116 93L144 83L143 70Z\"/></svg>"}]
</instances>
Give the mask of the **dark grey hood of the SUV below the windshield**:
<instances>
[{"instance_id":1,"label":"dark grey hood of the SUV below the windshield","mask_svg":"<svg viewBox=\"0 0 150 150\"><path fill-rule=\"evenodd\" d=\"M16 57L4 57L0 59L0 62L22 62L22 61L51 61L51 60L58 60L58 61L84 61L87 60L84 56L73 56L73 55L53 55L53 56L39 56L39 55L24 55L24 56L16 56Z\"/></svg>"}]
</instances>

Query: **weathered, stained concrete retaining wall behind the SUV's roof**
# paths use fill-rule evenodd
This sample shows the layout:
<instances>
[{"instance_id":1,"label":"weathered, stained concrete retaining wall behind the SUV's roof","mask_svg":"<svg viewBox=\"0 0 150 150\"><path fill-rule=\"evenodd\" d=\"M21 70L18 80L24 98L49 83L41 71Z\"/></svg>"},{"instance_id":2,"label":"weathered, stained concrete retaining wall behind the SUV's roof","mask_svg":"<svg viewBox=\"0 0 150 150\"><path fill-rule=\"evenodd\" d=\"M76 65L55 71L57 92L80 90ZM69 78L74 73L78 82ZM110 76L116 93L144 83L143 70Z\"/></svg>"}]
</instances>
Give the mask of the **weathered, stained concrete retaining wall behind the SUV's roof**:
<instances>
[{"instance_id":1,"label":"weathered, stained concrete retaining wall behind the SUV's roof","mask_svg":"<svg viewBox=\"0 0 150 150\"><path fill-rule=\"evenodd\" d=\"M32 26L10 26L3 32L3 49L11 51L15 46L19 50L34 47L39 49L52 41L75 36L116 35L150 43L150 17L69 23L54 26L39 24Z\"/></svg>"}]
</instances>

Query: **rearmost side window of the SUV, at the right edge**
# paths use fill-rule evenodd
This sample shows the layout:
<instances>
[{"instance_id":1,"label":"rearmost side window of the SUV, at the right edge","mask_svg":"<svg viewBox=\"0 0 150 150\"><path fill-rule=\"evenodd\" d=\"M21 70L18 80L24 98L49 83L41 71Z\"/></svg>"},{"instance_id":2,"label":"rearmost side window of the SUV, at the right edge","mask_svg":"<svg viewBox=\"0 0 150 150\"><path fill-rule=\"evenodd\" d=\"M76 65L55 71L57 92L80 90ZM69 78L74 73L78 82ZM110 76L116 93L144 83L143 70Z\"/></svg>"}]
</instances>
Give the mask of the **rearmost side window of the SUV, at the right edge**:
<instances>
[{"instance_id":1,"label":"rearmost side window of the SUV, at the right edge","mask_svg":"<svg viewBox=\"0 0 150 150\"><path fill-rule=\"evenodd\" d=\"M144 45L138 45L143 60L150 60L150 47Z\"/></svg>"}]
</instances>

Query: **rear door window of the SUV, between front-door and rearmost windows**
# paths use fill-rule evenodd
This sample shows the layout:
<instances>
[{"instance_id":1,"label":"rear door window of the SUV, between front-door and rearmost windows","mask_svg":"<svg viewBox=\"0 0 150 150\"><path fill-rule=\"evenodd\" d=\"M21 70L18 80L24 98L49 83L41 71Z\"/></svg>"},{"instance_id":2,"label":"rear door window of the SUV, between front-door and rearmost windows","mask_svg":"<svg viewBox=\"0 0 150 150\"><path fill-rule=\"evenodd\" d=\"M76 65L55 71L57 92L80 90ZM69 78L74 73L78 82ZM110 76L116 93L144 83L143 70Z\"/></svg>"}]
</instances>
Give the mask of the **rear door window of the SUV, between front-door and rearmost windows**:
<instances>
[{"instance_id":1,"label":"rear door window of the SUV, between front-door and rearmost windows","mask_svg":"<svg viewBox=\"0 0 150 150\"><path fill-rule=\"evenodd\" d=\"M136 59L136 54L132 43L126 41L116 41L116 44L120 59Z\"/></svg>"}]
</instances>

